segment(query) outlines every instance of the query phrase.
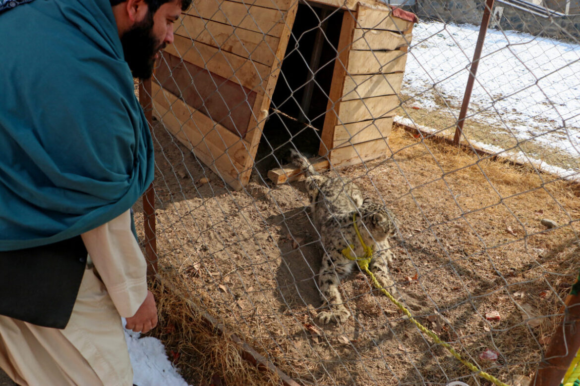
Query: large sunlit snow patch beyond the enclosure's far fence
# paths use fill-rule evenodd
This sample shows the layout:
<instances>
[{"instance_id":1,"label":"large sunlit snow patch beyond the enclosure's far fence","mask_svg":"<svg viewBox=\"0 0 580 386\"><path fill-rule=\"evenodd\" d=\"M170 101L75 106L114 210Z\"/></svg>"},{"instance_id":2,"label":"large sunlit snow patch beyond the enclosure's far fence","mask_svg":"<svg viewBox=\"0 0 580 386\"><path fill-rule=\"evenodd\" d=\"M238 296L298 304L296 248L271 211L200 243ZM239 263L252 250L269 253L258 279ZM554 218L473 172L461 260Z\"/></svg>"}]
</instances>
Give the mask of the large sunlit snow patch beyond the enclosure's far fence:
<instances>
[{"instance_id":1,"label":"large sunlit snow patch beyond the enclosure's far fence","mask_svg":"<svg viewBox=\"0 0 580 386\"><path fill-rule=\"evenodd\" d=\"M479 27L420 21L413 30L403 83L412 103L459 114ZM488 30L468 116L490 124L490 134L580 156L580 45Z\"/></svg>"}]
</instances>

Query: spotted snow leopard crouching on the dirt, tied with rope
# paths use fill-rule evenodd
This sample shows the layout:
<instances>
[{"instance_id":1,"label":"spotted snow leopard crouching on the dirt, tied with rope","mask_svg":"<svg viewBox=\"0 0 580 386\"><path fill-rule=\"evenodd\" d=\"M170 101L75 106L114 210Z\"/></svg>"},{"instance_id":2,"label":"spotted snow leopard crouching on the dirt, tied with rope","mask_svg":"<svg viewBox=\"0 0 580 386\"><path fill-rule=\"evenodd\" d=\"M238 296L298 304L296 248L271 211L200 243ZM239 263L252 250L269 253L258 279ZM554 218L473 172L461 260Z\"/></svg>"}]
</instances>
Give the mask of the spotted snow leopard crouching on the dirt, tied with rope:
<instances>
[{"instance_id":1,"label":"spotted snow leopard crouching on the dirt, tied with rope","mask_svg":"<svg viewBox=\"0 0 580 386\"><path fill-rule=\"evenodd\" d=\"M361 190L349 179L318 174L305 156L293 150L291 161L307 175L306 190L310 197L311 215L325 252L318 273L318 286L329 310L318 313L318 320L324 324L331 321L342 323L350 313L338 286L356 264L347 259L342 251L353 245L349 249L351 256L365 254L354 230L353 215L356 215L362 240L374 251L369 269L379 284L391 293L394 291L394 281L390 277L388 264L393 261L393 252L389 238L395 234L396 220L383 205L374 203L370 198L363 200Z\"/></svg>"}]
</instances>

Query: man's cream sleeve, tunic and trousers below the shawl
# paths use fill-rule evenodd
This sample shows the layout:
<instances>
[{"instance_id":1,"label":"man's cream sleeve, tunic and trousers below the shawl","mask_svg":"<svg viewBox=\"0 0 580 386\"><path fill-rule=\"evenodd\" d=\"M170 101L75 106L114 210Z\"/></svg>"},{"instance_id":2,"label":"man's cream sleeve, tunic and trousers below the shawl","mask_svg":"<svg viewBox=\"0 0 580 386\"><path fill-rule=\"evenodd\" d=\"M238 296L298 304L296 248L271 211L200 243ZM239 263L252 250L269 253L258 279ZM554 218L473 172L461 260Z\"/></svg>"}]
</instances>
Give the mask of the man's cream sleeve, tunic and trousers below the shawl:
<instances>
[{"instance_id":1,"label":"man's cream sleeve, tunic and trousers below the shawl","mask_svg":"<svg viewBox=\"0 0 580 386\"><path fill-rule=\"evenodd\" d=\"M100 279L89 263L65 329L0 315L0 367L19 385L133 384L121 316L136 313L147 284L129 211L82 238Z\"/></svg>"}]
</instances>

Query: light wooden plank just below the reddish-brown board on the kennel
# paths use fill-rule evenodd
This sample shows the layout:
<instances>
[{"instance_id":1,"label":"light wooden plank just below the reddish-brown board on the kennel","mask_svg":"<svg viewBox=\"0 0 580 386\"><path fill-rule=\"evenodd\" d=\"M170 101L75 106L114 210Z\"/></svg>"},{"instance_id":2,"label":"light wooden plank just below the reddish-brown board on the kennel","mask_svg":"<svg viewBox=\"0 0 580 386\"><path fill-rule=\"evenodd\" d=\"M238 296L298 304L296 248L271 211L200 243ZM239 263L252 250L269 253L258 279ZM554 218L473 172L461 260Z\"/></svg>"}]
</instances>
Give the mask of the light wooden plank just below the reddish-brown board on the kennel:
<instances>
[{"instance_id":1,"label":"light wooden plank just below the reddish-brown board on the kennel","mask_svg":"<svg viewBox=\"0 0 580 386\"><path fill-rule=\"evenodd\" d=\"M153 83L151 88L155 109L173 135L192 149L195 155L201 152L206 159L209 157L208 162L204 160L208 166L215 164L222 174L225 172L237 178L244 170L248 142L200 111L191 109L169 91L162 90L157 83Z\"/></svg>"}]
</instances>

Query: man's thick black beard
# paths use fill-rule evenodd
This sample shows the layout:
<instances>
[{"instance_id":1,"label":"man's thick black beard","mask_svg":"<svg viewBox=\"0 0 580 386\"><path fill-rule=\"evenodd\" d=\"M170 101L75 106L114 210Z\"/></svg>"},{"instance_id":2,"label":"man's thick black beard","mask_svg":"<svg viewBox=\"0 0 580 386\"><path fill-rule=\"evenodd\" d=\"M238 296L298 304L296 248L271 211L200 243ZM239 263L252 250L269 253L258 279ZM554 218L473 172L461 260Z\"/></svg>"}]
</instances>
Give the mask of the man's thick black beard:
<instances>
[{"instance_id":1,"label":"man's thick black beard","mask_svg":"<svg viewBox=\"0 0 580 386\"><path fill-rule=\"evenodd\" d=\"M155 53L165 47L153 36L153 14L147 13L146 19L135 24L121 36L125 61L134 78L148 79L153 75Z\"/></svg>"}]
</instances>

